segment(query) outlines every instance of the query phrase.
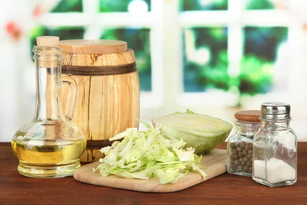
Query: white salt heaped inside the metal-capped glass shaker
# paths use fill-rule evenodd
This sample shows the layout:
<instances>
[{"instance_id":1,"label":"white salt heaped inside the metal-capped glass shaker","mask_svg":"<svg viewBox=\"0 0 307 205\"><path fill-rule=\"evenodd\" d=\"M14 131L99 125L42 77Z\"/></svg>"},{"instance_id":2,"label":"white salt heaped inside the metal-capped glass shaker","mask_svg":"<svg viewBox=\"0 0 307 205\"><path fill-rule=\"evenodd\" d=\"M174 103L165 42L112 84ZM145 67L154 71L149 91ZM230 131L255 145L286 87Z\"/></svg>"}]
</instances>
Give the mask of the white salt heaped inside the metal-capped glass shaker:
<instances>
[{"instance_id":1,"label":"white salt heaped inside the metal-capped glass shaker","mask_svg":"<svg viewBox=\"0 0 307 205\"><path fill-rule=\"evenodd\" d=\"M253 166L254 176L265 179L270 183L278 183L295 179L295 169L288 165L288 163L277 158L271 158L267 162L267 177L265 161L254 160Z\"/></svg>"}]
</instances>

